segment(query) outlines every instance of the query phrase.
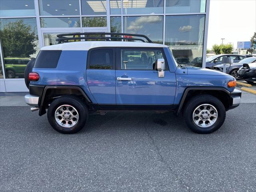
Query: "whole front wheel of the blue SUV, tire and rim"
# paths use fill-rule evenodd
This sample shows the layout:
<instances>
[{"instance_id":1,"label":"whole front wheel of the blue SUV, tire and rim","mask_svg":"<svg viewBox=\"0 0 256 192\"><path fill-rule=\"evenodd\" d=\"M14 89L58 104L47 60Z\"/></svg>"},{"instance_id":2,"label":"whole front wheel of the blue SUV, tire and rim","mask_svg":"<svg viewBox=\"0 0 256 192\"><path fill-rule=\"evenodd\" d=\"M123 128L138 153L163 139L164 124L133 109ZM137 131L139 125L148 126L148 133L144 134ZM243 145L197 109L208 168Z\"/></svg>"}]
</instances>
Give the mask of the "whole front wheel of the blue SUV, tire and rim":
<instances>
[{"instance_id":1,"label":"whole front wheel of the blue SUV, tire and rim","mask_svg":"<svg viewBox=\"0 0 256 192\"><path fill-rule=\"evenodd\" d=\"M204 94L191 98L183 109L183 115L193 132L209 134L222 126L226 109L218 98Z\"/></svg>"}]
</instances>

